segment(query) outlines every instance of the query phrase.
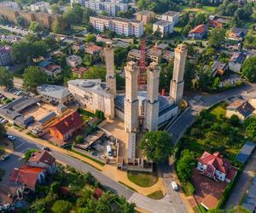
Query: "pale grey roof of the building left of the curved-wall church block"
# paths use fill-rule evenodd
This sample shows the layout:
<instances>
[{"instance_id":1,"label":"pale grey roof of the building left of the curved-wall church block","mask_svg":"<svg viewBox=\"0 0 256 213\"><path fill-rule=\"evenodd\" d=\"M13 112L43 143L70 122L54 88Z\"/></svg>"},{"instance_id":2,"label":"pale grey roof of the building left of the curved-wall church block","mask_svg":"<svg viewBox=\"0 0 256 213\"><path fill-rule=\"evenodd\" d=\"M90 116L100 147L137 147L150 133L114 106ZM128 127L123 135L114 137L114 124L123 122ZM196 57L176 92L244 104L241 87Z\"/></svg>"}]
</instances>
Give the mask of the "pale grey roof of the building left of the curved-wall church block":
<instances>
[{"instance_id":1,"label":"pale grey roof of the building left of the curved-wall church block","mask_svg":"<svg viewBox=\"0 0 256 213\"><path fill-rule=\"evenodd\" d=\"M51 85L51 84L42 84L37 88L40 95L47 95L56 99L62 99L71 95L67 87Z\"/></svg>"}]
</instances>

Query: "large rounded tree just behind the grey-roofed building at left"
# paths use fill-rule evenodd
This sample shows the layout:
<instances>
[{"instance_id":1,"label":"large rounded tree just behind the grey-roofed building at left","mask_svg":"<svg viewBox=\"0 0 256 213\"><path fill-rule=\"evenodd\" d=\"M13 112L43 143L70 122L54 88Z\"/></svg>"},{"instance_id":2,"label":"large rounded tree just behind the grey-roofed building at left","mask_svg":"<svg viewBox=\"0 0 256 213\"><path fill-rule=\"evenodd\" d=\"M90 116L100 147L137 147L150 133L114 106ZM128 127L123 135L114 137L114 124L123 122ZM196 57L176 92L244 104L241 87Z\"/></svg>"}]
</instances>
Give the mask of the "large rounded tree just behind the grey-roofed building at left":
<instances>
[{"instance_id":1,"label":"large rounded tree just behind the grey-roofed building at left","mask_svg":"<svg viewBox=\"0 0 256 213\"><path fill-rule=\"evenodd\" d=\"M23 87L35 92L39 85L47 83L48 75L38 66L28 66L23 74L23 80Z\"/></svg>"}]
</instances>

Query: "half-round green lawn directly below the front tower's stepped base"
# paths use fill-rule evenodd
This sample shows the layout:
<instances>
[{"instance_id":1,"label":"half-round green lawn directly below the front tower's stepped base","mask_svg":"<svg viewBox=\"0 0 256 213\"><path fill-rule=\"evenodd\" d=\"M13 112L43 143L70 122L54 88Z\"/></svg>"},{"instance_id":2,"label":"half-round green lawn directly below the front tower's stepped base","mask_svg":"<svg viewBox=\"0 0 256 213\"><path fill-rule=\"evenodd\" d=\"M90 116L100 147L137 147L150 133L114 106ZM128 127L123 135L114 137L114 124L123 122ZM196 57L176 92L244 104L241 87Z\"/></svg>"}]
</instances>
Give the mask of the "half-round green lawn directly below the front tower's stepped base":
<instances>
[{"instance_id":1,"label":"half-round green lawn directly below the front tower's stepped base","mask_svg":"<svg viewBox=\"0 0 256 213\"><path fill-rule=\"evenodd\" d=\"M158 181L156 172L128 171L128 179L140 187L151 187Z\"/></svg>"}]
</instances>

